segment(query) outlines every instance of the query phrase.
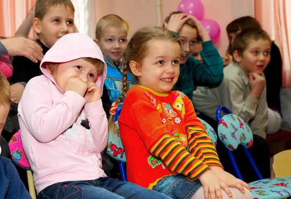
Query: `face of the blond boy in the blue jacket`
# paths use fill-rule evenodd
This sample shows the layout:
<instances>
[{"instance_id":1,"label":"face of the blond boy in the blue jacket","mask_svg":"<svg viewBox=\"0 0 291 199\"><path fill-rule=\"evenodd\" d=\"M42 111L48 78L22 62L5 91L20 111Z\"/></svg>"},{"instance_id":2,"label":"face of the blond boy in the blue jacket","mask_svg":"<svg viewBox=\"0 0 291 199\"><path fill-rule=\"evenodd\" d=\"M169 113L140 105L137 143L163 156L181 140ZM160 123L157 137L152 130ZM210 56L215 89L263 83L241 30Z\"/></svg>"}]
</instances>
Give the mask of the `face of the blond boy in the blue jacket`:
<instances>
[{"instance_id":1,"label":"face of the blond boy in the blue jacket","mask_svg":"<svg viewBox=\"0 0 291 199\"><path fill-rule=\"evenodd\" d=\"M108 27L102 30L100 39L96 41L103 55L113 61L119 61L126 48L127 31Z\"/></svg>"}]
</instances>

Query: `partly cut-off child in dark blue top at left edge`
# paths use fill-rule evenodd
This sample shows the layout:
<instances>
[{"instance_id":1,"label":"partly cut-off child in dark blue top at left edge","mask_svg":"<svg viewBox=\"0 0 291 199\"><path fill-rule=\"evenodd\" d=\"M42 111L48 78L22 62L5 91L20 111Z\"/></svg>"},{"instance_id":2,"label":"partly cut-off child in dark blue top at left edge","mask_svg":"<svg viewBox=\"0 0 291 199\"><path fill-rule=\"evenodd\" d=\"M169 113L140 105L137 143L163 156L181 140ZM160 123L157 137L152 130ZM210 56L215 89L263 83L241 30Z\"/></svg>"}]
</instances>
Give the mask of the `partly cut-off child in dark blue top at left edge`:
<instances>
[{"instance_id":1,"label":"partly cut-off child in dark blue top at left edge","mask_svg":"<svg viewBox=\"0 0 291 199\"><path fill-rule=\"evenodd\" d=\"M10 85L0 72L0 135L10 109ZM1 147L0 147L1 154ZM0 156L0 198L31 199L10 159Z\"/></svg>"}]
</instances>

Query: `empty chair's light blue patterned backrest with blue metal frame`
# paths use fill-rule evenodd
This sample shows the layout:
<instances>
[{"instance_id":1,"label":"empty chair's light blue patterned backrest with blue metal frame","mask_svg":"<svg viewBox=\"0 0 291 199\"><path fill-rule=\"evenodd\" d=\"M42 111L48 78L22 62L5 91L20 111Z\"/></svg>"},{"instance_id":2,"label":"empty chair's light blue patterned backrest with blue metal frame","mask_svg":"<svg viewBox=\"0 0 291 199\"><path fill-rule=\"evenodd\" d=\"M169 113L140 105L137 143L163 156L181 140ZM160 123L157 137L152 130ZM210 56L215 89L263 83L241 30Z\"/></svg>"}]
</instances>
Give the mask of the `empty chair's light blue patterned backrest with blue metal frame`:
<instances>
[{"instance_id":1,"label":"empty chair's light blue patterned backrest with blue metal frame","mask_svg":"<svg viewBox=\"0 0 291 199\"><path fill-rule=\"evenodd\" d=\"M222 111L224 111L227 115L221 117ZM253 144L253 133L247 123L245 123L242 118L232 114L225 106L220 106L217 108L216 119L218 123L218 137L228 149L227 153L236 173L236 177L243 180L232 151L236 150L241 144L243 146L244 153L246 154L247 159L249 160L256 175L260 180L263 179L252 155L248 151L248 148Z\"/></svg>"}]
</instances>

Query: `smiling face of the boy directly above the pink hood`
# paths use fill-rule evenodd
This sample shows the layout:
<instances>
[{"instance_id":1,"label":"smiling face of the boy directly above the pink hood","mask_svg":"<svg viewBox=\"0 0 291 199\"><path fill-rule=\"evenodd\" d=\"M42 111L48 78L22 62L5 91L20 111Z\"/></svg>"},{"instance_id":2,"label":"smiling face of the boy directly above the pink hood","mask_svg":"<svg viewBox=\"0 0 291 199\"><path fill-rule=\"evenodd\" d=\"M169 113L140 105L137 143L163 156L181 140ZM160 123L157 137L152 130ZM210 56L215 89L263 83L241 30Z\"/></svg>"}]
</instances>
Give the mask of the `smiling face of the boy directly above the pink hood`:
<instances>
[{"instance_id":1,"label":"smiling face of the boy directly above the pink hood","mask_svg":"<svg viewBox=\"0 0 291 199\"><path fill-rule=\"evenodd\" d=\"M33 19L33 28L40 41L51 48L62 36L74 32L74 12L62 4L50 6L41 20Z\"/></svg>"}]
</instances>

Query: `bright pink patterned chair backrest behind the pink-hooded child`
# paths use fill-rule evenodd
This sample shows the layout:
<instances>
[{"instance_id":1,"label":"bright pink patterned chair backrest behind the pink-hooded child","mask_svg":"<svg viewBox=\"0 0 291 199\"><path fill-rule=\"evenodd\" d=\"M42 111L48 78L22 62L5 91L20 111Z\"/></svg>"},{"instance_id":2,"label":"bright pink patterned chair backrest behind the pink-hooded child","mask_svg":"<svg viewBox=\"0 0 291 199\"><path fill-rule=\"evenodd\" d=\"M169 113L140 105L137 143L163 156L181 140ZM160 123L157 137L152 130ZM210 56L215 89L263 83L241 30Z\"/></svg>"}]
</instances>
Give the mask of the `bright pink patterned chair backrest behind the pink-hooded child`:
<instances>
[{"instance_id":1,"label":"bright pink patterned chair backrest behind the pink-hooded child","mask_svg":"<svg viewBox=\"0 0 291 199\"><path fill-rule=\"evenodd\" d=\"M22 146L20 130L17 131L16 134L14 134L14 136L10 139L8 146L10 149L12 161L19 167L22 167L26 170L31 170Z\"/></svg>"}]
</instances>

